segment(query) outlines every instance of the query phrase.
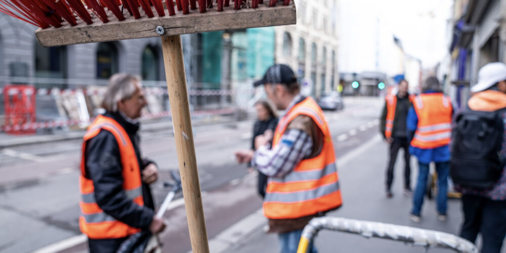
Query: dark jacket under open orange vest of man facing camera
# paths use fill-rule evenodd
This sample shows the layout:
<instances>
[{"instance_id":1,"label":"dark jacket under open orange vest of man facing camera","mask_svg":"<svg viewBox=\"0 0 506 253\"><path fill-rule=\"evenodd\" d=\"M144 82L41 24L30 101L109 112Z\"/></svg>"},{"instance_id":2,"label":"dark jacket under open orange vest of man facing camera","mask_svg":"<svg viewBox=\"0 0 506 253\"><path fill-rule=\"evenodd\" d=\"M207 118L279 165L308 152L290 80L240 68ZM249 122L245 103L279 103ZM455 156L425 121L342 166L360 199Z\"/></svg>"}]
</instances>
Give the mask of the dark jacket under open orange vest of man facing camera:
<instances>
[{"instance_id":1,"label":"dark jacket under open orange vest of man facing camera","mask_svg":"<svg viewBox=\"0 0 506 253\"><path fill-rule=\"evenodd\" d=\"M407 128L406 128L406 120L409 112L409 108L411 108L412 104L411 101L409 101L409 94L406 95L404 98L397 97L397 106L395 107L395 116L394 116L394 125L392 128L392 137L407 137ZM383 106L383 111L381 114L381 117L379 118L379 132L382 134L383 138L386 138L385 136L385 129L387 124L387 101L385 101L385 105ZM401 130L402 133L399 133L399 124L403 124L403 130Z\"/></svg>"}]
</instances>

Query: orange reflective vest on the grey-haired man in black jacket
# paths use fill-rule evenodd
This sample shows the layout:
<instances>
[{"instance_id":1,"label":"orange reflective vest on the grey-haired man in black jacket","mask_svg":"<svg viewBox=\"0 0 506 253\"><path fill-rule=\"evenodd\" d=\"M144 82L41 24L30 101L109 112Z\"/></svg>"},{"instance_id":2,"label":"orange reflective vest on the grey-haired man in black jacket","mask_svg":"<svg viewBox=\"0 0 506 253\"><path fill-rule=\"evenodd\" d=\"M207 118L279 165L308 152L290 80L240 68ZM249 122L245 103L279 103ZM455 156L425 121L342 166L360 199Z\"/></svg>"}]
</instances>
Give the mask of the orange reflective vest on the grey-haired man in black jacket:
<instances>
[{"instance_id":1,"label":"orange reflective vest on the grey-haired man in black jacket","mask_svg":"<svg viewBox=\"0 0 506 253\"><path fill-rule=\"evenodd\" d=\"M85 151L86 142L97 136L101 130L111 132L119 146L121 165L123 167L123 190L126 196L138 205L144 205L142 197L142 180L139 162L134 145L122 126L114 119L98 116L90 125L83 138L81 176L79 178L81 200L81 216L79 227L81 232L92 239L121 238L140 232L140 229L130 227L104 213L95 200L93 181L85 177Z\"/></svg>"}]
</instances>

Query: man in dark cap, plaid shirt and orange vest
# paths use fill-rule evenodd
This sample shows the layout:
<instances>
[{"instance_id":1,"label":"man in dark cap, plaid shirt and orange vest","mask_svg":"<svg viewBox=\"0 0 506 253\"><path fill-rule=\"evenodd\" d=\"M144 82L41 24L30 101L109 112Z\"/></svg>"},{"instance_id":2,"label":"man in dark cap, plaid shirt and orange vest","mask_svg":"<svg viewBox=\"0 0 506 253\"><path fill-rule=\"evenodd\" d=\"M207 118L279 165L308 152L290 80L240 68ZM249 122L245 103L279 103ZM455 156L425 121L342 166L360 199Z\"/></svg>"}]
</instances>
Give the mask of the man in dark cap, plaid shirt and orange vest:
<instances>
[{"instance_id":1,"label":"man in dark cap, plaid shirt and orange vest","mask_svg":"<svg viewBox=\"0 0 506 253\"><path fill-rule=\"evenodd\" d=\"M270 232L279 234L280 252L297 252L303 228L314 218L341 206L341 190L332 138L323 111L311 97L300 94L290 67L270 67L255 86L264 85L267 96L285 110L272 136L255 140L257 151L236 153L240 163L252 164L269 177L264 214ZM314 245L310 252L316 252Z\"/></svg>"}]
</instances>

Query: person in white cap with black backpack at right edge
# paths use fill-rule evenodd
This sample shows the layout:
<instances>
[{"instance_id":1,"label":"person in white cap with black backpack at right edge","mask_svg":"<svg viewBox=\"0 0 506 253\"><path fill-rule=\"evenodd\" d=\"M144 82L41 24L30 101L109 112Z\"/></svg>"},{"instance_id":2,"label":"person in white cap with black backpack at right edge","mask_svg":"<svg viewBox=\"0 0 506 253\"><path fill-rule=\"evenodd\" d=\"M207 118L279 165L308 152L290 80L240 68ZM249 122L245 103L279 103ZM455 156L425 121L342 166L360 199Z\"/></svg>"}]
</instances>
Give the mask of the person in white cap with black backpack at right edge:
<instances>
[{"instance_id":1,"label":"person in white cap with black backpack at right edge","mask_svg":"<svg viewBox=\"0 0 506 253\"><path fill-rule=\"evenodd\" d=\"M499 253L506 235L506 65L483 66L471 91L476 94L456 117L452 140L451 175L464 216L460 236L475 242L481 233L481 252Z\"/></svg>"}]
</instances>

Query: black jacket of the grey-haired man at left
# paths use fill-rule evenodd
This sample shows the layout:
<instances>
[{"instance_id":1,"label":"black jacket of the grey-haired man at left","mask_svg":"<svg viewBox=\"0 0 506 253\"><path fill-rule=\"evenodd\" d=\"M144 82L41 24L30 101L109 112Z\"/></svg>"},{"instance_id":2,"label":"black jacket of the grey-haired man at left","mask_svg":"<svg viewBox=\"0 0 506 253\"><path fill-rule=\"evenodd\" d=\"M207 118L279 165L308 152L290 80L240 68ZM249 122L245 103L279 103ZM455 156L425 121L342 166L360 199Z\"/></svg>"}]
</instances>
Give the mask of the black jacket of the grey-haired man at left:
<instances>
[{"instance_id":1,"label":"black jacket of the grey-haired man at left","mask_svg":"<svg viewBox=\"0 0 506 253\"><path fill-rule=\"evenodd\" d=\"M128 133L134 145L141 171L152 163L141 159L139 149L139 124L126 121L119 113L106 113ZM88 140L85 152L85 177L93 180L95 199L98 206L114 219L129 226L148 229L154 214L154 202L149 185L142 183L144 206L128 199L123 191L123 176L119 147L111 132L101 130Z\"/></svg>"}]
</instances>

